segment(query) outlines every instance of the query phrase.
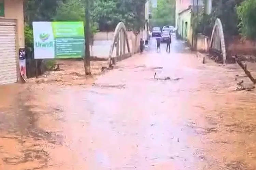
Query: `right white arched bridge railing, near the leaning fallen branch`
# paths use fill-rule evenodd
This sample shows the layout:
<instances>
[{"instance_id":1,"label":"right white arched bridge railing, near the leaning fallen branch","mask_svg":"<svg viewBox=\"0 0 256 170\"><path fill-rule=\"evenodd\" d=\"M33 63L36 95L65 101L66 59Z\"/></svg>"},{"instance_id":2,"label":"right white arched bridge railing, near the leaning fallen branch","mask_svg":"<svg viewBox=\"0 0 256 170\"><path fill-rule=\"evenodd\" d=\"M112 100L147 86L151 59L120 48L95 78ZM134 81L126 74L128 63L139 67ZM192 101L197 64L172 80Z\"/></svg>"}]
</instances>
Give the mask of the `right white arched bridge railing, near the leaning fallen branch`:
<instances>
[{"instance_id":1,"label":"right white arched bridge railing, near the leaning fallen branch","mask_svg":"<svg viewBox=\"0 0 256 170\"><path fill-rule=\"evenodd\" d=\"M226 46L223 33L222 22L216 19L210 41L210 52L215 53L218 57L222 57L223 64L226 63Z\"/></svg>"}]
</instances>

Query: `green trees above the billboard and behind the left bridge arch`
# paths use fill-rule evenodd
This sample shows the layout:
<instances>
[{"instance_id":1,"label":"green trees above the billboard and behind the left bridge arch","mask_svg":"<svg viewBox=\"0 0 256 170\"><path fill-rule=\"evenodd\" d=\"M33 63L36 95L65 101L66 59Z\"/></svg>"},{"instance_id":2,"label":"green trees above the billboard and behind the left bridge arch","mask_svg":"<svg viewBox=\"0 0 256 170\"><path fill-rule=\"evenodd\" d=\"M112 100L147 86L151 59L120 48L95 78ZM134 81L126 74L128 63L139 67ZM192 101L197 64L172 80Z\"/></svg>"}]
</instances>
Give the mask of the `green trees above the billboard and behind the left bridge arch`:
<instances>
[{"instance_id":1,"label":"green trees above the billboard and behind the left bridge arch","mask_svg":"<svg viewBox=\"0 0 256 170\"><path fill-rule=\"evenodd\" d=\"M123 21L127 29L138 34L144 27L144 7L146 0L90 0L91 31L98 27L113 30ZM85 20L84 0L30 0L25 1L25 21Z\"/></svg>"}]
</instances>

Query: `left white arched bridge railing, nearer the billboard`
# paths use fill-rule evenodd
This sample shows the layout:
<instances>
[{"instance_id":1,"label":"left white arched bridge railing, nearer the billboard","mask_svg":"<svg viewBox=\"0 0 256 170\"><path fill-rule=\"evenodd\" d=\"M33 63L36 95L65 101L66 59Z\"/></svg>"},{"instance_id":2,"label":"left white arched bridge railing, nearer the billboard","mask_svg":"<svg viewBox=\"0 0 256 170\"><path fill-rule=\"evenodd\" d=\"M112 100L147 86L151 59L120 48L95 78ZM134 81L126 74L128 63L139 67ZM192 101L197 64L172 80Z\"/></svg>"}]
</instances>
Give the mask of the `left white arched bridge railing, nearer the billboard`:
<instances>
[{"instance_id":1,"label":"left white arched bridge railing, nearer the billboard","mask_svg":"<svg viewBox=\"0 0 256 170\"><path fill-rule=\"evenodd\" d=\"M116 54L113 55L113 51L116 49ZM113 65L116 63L116 59L118 57L129 56L130 45L129 39L126 32L126 27L123 22L119 22L115 28L115 32L113 35L113 41L111 44L110 52L109 52L109 65Z\"/></svg>"}]
</instances>

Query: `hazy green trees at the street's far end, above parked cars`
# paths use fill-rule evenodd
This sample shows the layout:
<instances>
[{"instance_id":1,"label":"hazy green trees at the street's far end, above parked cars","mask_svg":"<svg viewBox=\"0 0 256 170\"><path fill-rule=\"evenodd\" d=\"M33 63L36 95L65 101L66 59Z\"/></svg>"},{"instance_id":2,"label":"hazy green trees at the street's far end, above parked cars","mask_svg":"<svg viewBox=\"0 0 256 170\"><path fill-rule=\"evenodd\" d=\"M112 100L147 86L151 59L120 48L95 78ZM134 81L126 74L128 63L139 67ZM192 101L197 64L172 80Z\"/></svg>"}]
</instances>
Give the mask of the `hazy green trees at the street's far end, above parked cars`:
<instances>
[{"instance_id":1,"label":"hazy green trees at the street's far end, above parked cars","mask_svg":"<svg viewBox=\"0 0 256 170\"><path fill-rule=\"evenodd\" d=\"M158 0L153 9L152 26L175 25L175 0Z\"/></svg>"}]
</instances>

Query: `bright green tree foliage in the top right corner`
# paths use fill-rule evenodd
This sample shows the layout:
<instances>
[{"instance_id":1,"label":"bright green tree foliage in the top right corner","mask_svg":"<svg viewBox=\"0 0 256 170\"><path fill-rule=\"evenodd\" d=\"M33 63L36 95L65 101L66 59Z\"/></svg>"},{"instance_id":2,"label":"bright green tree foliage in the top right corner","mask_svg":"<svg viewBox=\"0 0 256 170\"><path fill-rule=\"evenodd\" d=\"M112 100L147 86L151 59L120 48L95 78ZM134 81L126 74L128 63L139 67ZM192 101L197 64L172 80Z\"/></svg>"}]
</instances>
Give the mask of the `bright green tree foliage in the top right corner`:
<instances>
[{"instance_id":1,"label":"bright green tree foliage in the top right corner","mask_svg":"<svg viewBox=\"0 0 256 170\"><path fill-rule=\"evenodd\" d=\"M248 38L256 40L256 1L245 0L237 7L237 14L240 19L239 31Z\"/></svg>"}]
</instances>

